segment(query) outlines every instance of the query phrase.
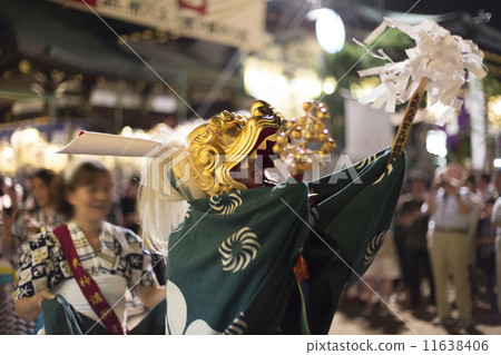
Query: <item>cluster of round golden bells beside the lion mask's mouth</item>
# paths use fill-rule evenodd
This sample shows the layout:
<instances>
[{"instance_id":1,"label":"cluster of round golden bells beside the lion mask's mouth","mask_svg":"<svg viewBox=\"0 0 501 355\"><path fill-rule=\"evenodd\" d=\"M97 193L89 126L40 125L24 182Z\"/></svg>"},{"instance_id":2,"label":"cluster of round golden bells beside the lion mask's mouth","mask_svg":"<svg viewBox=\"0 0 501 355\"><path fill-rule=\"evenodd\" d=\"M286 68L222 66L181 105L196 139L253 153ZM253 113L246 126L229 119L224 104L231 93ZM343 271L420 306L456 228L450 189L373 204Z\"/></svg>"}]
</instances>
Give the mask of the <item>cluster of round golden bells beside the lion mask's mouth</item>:
<instances>
[{"instance_id":1,"label":"cluster of round golden bells beside the lion mask's mouth","mask_svg":"<svg viewBox=\"0 0 501 355\"><path fill-rule=\"evenodd\" d=\"M293 174L311 171L315 162L323 165L325 157L336 148L325 122L331 115L323 102L306 101L303 103L305 115L285 122L273 152L283 161L292 160Z\"/></svg>"}]
</instances>

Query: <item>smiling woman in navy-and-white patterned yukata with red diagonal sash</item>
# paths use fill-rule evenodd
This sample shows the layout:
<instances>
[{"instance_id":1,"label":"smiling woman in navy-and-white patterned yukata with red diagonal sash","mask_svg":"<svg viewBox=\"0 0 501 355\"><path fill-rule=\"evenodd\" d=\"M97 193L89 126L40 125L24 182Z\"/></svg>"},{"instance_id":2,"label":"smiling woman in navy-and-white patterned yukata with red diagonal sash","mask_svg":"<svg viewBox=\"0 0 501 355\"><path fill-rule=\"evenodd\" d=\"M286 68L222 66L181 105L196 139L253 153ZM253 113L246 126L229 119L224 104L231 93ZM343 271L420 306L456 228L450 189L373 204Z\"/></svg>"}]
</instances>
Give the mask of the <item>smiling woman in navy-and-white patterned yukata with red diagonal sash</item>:
<instances>
[{"instance_id":1,"label":"smiling woman in navy-and-white patterned yukata with red diagonal sash","mask_svg":"<svg viewBox=\"0 0 501 355\"><path fill-rule=\"evenodd\" d=\"M16 310L36 319L43 299L65 299L80 321L99 321L109 333L124 334L127 289L154 307L165 298L165 287L158 286L139 237L106 221L115 189L111 171L85 161L59 179L56 205L69 221L30 239L19 263Z\"/></svg>"}]
</instances>

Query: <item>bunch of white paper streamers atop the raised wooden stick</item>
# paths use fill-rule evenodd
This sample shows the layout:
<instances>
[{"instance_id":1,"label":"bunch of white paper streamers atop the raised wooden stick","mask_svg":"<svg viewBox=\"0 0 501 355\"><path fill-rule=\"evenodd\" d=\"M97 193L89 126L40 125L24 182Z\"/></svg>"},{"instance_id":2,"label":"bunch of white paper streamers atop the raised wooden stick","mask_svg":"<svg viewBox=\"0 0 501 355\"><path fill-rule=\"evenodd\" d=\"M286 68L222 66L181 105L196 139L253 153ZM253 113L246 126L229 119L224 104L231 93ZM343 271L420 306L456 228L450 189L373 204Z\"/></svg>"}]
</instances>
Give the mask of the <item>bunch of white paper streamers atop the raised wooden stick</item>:
<instances>
[{"instance_id":1,"label":"bunch of white paper streamers atop the raised wooden stick","mask_svg":"<svg viewBox=\"0 0 501 355\"><path fill-rule=\"evenodd\" d=\"M371 43L380 36L386 27L397 28L415 40L416 47L405 50L407 59L401 62L392 62L383 52L381 56L372 53L364 45L367 52L380 59L390 61L382 67L375 67L358 71L361 77L379 75L381 85L358 101L362 105L373 102L372 107L381 108L394 112L395 105L407 101L421 79L430 79L426 87L429 105L442 103L449 106L439 124L452 110L461 107L461 100L458 99L461 86L466 81L466 70L471 71L478 78L487 75L482 65L483 52L471 40L463 40L459 36L452 36L448 30L440 27L436 22L424 20L416 26L410 26L390 18L385 18L365 40Z\"/></svg>"}]
</instances>

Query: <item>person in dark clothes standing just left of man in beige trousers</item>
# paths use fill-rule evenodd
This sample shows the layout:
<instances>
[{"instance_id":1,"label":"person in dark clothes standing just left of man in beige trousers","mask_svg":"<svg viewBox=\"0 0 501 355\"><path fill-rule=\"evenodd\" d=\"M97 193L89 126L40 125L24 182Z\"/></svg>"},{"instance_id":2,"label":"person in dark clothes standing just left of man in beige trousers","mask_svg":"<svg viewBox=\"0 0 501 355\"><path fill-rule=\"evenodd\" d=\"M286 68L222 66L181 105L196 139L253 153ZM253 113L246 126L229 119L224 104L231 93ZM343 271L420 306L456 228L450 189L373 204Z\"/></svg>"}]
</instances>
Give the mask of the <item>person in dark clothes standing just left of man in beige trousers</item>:
<instances>
[{"instance_id":1,"label":"person in dark clothes standing just left of man in beige trousers","mask_svg":"<svg viewBox=\"0 0 501 355\"><path fill-rule=\"evenodd\" d=\"M415 308L421 303L421 284L424 278L429 280L430 303L435 303L435 288L431 270L430 257L426 249L428 215L421 208L428 198L426 180L415 171L410 177L411 193L403 196L401 211L406 218L406 234L404 239L404 257L409 270L407 285L410 289L410 307Z\"/></svg>"}]
</instances>

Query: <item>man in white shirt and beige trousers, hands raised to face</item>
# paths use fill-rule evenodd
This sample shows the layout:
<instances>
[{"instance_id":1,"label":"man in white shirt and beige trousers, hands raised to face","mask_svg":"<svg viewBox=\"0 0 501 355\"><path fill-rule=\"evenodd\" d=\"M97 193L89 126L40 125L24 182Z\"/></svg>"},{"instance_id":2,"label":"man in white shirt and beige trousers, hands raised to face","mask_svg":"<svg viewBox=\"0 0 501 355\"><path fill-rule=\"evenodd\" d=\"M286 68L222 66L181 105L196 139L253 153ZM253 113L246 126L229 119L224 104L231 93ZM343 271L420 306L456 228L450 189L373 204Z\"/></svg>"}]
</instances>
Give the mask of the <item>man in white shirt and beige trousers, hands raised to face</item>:
<instances>
[{"instance_id":1,"label":"man in white shirt and beige trousers, hands raised to face","mask_svg":"<svg viewBox=\"0 0 501 355\"><path fill-rule=\"evenodd\" d=\"M430 189L426 206L430 215L429 252L436 293L438 316L433 324L451 325L448 300L449 273L455 284L455 298L461 328L473 326L471 293L468 278L469 216L473 208L468 189L460 189L465 180L464 169L455 164L440 167Z\"/></svg>"}]
</instances>

